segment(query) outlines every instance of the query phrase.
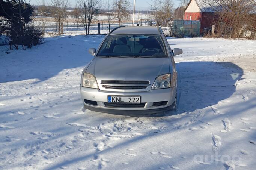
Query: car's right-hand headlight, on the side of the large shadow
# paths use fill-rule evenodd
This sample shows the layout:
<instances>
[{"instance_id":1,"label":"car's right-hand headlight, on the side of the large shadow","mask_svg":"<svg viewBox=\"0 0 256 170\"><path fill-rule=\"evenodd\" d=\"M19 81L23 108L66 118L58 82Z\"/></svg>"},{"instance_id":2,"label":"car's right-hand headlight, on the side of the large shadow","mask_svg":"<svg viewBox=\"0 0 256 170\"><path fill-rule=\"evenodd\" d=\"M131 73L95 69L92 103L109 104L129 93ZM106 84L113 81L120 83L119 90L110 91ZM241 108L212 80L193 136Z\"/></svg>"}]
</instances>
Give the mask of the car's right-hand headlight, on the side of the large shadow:
<instances>
[{"instance_id":1,"label":"car's right-hand headlight, on the side of the large shadow","mask_svg":"<svg viewBox=\"0 0 256 170\"><path fill-rule=\"evenodd\" d=\"M155 79L152 89L170 88L171 74L160 75Z\"/></svg>"}]
</instances>

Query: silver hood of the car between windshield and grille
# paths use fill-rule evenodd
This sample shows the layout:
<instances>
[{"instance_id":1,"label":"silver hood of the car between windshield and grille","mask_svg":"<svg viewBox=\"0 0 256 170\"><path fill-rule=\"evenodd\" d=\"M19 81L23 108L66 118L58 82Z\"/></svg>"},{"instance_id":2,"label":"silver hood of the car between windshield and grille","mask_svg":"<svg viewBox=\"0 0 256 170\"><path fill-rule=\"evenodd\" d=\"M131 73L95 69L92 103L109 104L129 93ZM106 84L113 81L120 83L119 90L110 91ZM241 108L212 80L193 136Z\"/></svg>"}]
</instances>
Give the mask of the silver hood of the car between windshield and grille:
<instances>
[{"instance_id":1,"label":"silver hood of the car between windshield and grille","mask_svg":"<svg viewBox=\"0 0 256 170\"><path fill-rule=\"evenodd\" d=\"M99 89L101 80L148 80L169 73L169 58L101 58L96 57L86 72L95 75Z\"/></svg>"}]
</instances>

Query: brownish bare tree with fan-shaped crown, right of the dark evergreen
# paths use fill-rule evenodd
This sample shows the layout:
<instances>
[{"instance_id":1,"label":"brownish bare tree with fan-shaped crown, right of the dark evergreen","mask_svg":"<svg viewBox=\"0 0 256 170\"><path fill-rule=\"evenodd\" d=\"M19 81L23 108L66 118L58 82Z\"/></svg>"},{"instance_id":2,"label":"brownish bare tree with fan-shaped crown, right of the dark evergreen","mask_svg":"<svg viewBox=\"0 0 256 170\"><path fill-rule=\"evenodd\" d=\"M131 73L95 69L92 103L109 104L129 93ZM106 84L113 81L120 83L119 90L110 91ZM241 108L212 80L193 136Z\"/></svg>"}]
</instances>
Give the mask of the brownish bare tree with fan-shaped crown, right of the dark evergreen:
<instances>
[{"instance_id":1,"label":"brownish bare tree with fan-shaped crown, right of the dark evergreen","mask_svg":"<svg viewBox=\"0 0 256 170\"><path fill-rule=\"evenodd\" d=\"M58 33L60 35L60 24L67 17L68 0L51 0L51 15L58 24Z\"/></svg>"}]
</instances>

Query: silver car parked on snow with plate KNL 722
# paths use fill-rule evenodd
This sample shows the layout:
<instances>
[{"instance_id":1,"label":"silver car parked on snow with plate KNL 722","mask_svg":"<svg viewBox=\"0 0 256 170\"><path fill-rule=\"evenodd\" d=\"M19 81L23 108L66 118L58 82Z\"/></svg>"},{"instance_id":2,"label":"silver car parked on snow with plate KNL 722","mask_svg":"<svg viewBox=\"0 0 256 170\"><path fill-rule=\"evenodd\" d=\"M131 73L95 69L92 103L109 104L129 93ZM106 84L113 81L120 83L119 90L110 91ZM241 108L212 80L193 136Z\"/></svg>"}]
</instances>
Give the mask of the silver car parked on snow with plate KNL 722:
<instances>
[{"instance_id":1,"label":"silver car parked on snow with plate KNL 722","mask_svg":"<svg viewBox=\"0 0 256 170\"><path fill-rule=\"evenodd\" d=\"M160 27L117 27L102 41L81 75L86 109L112 114L154 114L176 109L177 71Z\"/></svg>"}]
</instances>

